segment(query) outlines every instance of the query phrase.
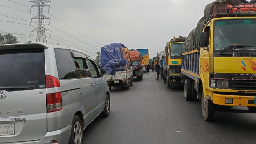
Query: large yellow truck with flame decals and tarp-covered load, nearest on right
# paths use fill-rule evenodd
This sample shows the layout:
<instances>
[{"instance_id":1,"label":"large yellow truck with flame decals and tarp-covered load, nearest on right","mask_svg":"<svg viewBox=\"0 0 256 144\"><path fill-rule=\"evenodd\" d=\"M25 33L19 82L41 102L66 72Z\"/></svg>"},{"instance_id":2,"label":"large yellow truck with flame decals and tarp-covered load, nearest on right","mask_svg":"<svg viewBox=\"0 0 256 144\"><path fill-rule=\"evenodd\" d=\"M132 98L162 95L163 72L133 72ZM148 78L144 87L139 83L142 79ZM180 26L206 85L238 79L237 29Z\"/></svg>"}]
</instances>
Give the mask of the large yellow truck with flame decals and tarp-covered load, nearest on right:
<instances>
[{"instance_id":1,"label":"large yellow truck with flame decals and tarp-covered load, nearest on right","mask_svg":"<svg viewBox=\"0 0 256 144\"><path fill-rule=\"evenodd\" d=\"M215 110L256 113L256 4L227 4L212 3L182 49L184 98L201 100L206 121Z\"/></svg>"}]
</instances>

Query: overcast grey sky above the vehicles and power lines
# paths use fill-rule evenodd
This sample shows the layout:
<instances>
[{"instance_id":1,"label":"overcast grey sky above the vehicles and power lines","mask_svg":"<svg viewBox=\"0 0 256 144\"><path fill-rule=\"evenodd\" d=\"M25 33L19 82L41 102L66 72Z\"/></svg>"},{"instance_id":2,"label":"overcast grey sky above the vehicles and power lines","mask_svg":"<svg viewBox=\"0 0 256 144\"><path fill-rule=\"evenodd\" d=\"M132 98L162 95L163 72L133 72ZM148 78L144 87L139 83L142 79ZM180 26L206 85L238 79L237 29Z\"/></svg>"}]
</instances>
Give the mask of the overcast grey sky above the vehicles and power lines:
<instances>
[{"instance_id":1,"label":"overcast grey sky above the vehicles and power lines","mask_svg":"<svg viewBox=\"0 0 256 144\"><path fill-rule=\"evenodd\" d=\"M47 42L86 50L93 58L102 46L121 42L129 49L149 49L152 58L173 36L187 36L210 2L213 0L51 0L47 3L50 14L44 15L63 33L45 20L45 28L52 30ZM27 36L37 27L37 20L32 20L33 27L29 26L30 19L37 15L37 9L29 13L30 7L26 7L32 4L29 0L0 0L0 33L17 33L13 35L21 42L35 41L37 32L32 32L33 39Z\"/></svg>"}]
</instances>

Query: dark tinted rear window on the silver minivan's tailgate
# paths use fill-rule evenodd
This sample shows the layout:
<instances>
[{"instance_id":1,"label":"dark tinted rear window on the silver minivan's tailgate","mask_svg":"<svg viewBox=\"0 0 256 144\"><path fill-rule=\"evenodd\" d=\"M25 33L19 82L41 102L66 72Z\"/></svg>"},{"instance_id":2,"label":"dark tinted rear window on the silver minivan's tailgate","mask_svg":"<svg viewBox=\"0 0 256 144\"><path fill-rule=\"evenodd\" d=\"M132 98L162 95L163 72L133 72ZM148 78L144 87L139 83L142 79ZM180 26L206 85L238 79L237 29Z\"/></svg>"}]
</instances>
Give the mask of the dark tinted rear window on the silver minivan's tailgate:
<instances>
[{"instance_id":1,"label":"dark tinted rear window on the silver minivan's tailgate","mask_svg":"<svg viewBox=\"0 0 256 144\"><path fill-rule=\"evenodd\" d=\"M44 49L0 50L0 90L45 88Z\"/></svg>"}]
</instances>

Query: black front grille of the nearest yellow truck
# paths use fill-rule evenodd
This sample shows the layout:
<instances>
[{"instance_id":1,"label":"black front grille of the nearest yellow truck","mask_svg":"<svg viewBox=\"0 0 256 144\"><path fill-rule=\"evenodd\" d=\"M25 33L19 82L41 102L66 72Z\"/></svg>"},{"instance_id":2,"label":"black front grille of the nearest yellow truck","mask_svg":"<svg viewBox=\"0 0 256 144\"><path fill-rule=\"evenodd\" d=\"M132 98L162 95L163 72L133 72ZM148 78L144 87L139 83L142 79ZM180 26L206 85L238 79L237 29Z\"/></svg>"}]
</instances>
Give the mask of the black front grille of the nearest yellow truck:
<instances>
[{"instance_id":1,"label":"black front grille of the nearest yellow truck","mask_svg":"<svg viewBox=\"0 0 256 144\"><path fill-rule=\"evenodd\" d=\"M234 89L249 89L256 90L256 81L242 81L242 80L234 80L232 87Z\"/></svg>"}]
</instances>

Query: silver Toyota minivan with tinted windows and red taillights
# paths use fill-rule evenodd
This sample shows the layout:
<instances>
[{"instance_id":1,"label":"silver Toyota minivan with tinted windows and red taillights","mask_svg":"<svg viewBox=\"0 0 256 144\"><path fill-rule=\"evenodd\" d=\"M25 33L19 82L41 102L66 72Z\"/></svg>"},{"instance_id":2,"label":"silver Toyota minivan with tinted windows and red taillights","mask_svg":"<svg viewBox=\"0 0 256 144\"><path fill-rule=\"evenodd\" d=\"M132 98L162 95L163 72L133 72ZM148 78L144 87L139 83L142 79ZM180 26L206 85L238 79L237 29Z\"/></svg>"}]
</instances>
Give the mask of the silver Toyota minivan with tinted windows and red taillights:
<instances>
[{"instance_id":1,"label":"silver Toyota minivan with tinted windows and red taillights","mask_svg":"<svg viewBox=\"0 0 256 144\"><path fill-rule=\"evenodd\" d=\"M0 143L75 143L110 113L106 71L83 50L0 45Z\"/></svg>"}]
</instances>

